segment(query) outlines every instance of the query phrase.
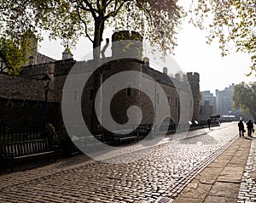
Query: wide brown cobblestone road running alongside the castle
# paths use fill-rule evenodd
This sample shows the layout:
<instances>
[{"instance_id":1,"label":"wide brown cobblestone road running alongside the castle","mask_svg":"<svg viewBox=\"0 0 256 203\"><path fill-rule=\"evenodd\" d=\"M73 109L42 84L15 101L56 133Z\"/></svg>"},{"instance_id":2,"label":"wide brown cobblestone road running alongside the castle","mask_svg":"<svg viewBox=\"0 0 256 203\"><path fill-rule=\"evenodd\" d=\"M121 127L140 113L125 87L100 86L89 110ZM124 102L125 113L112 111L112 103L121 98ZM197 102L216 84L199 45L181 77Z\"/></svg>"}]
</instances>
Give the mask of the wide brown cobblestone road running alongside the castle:
<instances>
[{"instance_id":1,"label":"wide brown cobblestone road running alongside the castle","mask_svg":"<svg viewBox=\"0 0 256 203\"><path fill-rule=\"evenodd\" d=\"M152 148L104 163L79 156L0 176L0 202L154 202L175 197L202 168L236 139L236 123L167 136ZM116 154L115 154L116 155ZM133 160L133 156L143 158Z\"/></svg>"}]
</instances>

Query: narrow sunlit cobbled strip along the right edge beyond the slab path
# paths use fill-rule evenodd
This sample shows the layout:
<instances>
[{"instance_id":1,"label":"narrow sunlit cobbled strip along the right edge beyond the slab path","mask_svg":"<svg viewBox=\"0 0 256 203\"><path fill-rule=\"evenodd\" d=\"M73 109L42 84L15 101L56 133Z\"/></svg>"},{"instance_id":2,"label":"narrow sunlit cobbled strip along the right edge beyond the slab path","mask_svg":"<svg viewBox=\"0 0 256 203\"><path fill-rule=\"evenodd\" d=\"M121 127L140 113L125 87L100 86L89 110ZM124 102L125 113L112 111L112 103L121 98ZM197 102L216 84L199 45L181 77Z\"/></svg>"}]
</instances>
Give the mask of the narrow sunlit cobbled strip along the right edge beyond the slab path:
<instances>
[{"instance_id":1,"label":"narrow sunlit cobbled strip along the right edge beyond the slab path","mask_svg":"<svg viewBox=\"0 0 256 203\"><path fill-rule=\"evenodd\" d=\"M255 125L254 125L255 129ZM247 159L247 166L241 179L241 186L237 202L256 202L256 139L251 145L250 155Z\"/></svg>"}]
</instances>

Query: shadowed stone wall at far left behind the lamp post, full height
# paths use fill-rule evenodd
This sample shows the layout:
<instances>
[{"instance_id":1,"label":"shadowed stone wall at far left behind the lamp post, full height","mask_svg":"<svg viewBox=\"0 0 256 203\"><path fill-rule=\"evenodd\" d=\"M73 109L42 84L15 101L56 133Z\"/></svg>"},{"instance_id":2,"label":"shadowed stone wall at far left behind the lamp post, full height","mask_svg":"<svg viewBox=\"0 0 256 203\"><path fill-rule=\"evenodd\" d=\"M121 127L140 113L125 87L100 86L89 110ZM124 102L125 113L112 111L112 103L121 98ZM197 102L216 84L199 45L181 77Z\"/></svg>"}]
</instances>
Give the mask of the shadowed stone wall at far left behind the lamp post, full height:
<instances>
[{"instance_id":1,"label":"shadowed stone wall at far left behind the lamp post, full height","mask_svg":"<svg viewBox=\"0 0 256 203\"><path fill-rule=\"evenodd\" d=\"M53 87L49 89L49 121L61 118ZM0 125L9 129L44 127L44 85L37 78L0 74ZM59 119L56 119L56 118Z\"/></svg>"}]
</instances>

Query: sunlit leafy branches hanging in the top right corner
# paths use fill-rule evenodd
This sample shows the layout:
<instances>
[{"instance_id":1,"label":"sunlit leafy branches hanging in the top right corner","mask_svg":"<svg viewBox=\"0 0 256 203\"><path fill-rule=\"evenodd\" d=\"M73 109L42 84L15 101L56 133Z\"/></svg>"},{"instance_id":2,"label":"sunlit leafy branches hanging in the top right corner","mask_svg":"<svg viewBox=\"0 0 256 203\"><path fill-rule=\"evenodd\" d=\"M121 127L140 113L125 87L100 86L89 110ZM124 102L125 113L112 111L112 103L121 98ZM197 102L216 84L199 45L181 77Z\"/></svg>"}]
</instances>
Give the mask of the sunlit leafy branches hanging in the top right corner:
<instances>
[{"instance_id":1,"label":"sunlit leafy branches hanging in the top right corner","mask_svg":"<svg viewBox=\"0 0 256 203\"><path fill-rule=\"evenodd\" d=\"M223 56L230 53L232 42L237 52L251 54L252 66L248 75L256 71L255 8L255 0L194 0L190 8L190 21L210 29L207 42L218 39Z\"/></svg>"}]
</instances>

